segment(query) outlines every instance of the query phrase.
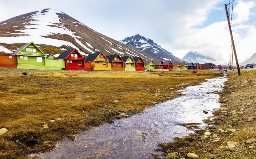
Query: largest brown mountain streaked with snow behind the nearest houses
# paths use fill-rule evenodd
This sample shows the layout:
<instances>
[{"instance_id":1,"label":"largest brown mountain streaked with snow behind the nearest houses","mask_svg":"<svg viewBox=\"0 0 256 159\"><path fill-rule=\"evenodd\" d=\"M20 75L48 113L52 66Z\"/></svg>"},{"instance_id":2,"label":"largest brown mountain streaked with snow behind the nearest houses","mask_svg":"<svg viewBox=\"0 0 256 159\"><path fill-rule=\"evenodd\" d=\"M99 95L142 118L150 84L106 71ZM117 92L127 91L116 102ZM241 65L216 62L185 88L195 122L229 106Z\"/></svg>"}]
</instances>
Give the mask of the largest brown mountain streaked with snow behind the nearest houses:
<instances>
[{"instance_id":1,"label":"largest brown mountain streaked with snow behind the nearest houses","mask_svg":"<svg viewBox=\"0 0 256 159\"><path fill-rule=\"evenodd\" d=\"M120 56L156 60L54 9L42 9L0 22L0 52L12 53L31 41L47 54L60 54L63 50L76 48L83 55L102 51L106 55L119 53Z\"/></svg>"}]
</instances>

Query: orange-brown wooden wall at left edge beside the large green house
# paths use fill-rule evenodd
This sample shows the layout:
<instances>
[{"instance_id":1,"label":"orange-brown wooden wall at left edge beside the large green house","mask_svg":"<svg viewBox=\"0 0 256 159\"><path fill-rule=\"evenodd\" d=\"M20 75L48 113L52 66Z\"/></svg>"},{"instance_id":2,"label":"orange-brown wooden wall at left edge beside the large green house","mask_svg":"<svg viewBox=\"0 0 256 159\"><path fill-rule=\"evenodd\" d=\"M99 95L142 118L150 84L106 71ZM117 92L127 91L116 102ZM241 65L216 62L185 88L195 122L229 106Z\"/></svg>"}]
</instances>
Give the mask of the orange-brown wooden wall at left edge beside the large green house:
<instances>
[{"instance_id":1,"label":"orange-brown wooden wall at left edge beside the large green house","mask_svg":"<svg viewBox=\"0 0 256 159\"><path fill-rule=\"evenodd\" d=\"M0 54L0 67L17 68L17 57L15 55Z\"/></svg>"}]
</instances>

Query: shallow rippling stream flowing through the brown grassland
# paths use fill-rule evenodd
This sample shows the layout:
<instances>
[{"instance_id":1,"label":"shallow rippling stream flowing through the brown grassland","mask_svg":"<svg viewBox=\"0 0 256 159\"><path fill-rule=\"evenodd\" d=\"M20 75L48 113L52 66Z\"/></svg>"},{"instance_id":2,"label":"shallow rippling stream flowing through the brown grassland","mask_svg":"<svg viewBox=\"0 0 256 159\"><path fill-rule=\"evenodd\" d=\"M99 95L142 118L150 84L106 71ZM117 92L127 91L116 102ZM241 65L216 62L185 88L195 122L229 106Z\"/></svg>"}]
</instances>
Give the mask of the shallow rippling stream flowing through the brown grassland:
<instances>
[{"instance_id":1,"label":"shallow rippling stream flowing through the brown grassland","mask_svg":"<svg viewBox=\"0 0 256 159\"><path fill-rule=\"evenodd\" d=\"M182 97L145 109L143 113L116 120L115 123L93 127L74 141L63 141L51 152L37 154L41 159L135 159L153 158L151 153L162 142L182 137L188 130L181 123L202 123L220 106L219 95L225 77L208 79L200 85L181 90ZM208 94L209 93L209 94ZM210 113L204 114L202 110ZM159 154L159 153L158 153Z\"/></svg>"}]
</instances>

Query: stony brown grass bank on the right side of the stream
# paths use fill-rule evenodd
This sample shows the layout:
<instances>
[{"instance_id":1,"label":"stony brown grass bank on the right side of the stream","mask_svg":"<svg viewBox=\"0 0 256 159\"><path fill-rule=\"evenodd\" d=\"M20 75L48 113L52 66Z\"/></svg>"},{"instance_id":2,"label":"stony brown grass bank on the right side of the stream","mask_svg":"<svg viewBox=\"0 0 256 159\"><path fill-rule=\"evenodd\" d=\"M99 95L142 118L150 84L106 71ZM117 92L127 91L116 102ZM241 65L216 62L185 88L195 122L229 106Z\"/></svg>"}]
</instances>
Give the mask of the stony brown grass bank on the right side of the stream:
<instances>
[{"instance_id":1,"label":"stony brown grass bank on the right side of the stream","mask_svg":"<svg viewBox=\"0 0 256 159\"><path fill-rule=\"evenodd\" d=\"M189 152L196 153L200 159L255 159L256 142L246 143L249 139L256 139L256 119L247 121L249 117L256 117L256 70L230 72L225 82L219 102L227 108L227 112L215 111L214 118L207 120L205 129L195 130L184 138L174 138L174 142L161 143L158 149L168 153L177 152L176 158L186 158ZM236 111L235 113L232 113ZM218 130L236 129L235 133L219 132ZM203 137L206 131L217 136ZM219 141L215 141L219 138ZM238 142L235 149L228 149L227 142ZM251 146L251 147L250 147ZM154 155L155 159L161 158Z\"/></svg>"}]
</instances>

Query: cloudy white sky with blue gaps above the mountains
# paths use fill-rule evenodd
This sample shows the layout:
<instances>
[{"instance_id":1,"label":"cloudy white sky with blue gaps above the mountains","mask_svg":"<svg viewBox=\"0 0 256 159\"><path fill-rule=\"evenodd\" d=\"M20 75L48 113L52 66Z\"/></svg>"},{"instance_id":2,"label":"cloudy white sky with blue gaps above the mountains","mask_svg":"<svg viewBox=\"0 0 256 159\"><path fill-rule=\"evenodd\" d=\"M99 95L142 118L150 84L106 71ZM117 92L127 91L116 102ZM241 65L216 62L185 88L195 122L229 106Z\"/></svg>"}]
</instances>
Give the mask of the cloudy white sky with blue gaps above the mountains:
<instances>
[{"instance_id":1,"label":"cloudy white sky with blue gaps above the mountains","mask_svg":"<svg viewBox=\"0 0 256 159\"><path fill-rule=\"evenodd\" d=\"M231 0L230 0L231 1ZM182 58L196 50L227 62L227 0L0 0L0 21L52 8L115 40L135 34ZM232 6L231 6L232 7ZM256 0L235 0L232 29L240 63L256 52Z\"/></svg>"}]
</instances>

